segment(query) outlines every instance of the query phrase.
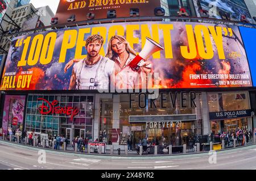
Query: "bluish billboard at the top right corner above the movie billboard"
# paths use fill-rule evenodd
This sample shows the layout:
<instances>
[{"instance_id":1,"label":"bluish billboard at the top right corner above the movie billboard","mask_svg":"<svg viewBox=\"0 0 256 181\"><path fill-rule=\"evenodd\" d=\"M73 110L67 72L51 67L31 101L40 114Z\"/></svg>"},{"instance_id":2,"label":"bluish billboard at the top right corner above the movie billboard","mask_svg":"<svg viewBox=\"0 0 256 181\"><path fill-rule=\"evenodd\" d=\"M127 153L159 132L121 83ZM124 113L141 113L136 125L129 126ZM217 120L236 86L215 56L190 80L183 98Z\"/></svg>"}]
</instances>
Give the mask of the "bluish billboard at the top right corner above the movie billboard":
<instances>
[{"instance_id":1,"label":"bluish billboard at the top right corner above the movie billboard","mask_svg":"<svg viewBox=\"0 0 256 181\"><path fill-rule=\"evenodd\" d=\"M253 23L250 12L243 0L193 0L193 3L198 17L201 17L200 13L205 10L208 12L209 18L222 19L221 16L226 18L227 15L230 20L240 22L241 15L245 15L245 18Z\"/></svg>"}]
</instances>

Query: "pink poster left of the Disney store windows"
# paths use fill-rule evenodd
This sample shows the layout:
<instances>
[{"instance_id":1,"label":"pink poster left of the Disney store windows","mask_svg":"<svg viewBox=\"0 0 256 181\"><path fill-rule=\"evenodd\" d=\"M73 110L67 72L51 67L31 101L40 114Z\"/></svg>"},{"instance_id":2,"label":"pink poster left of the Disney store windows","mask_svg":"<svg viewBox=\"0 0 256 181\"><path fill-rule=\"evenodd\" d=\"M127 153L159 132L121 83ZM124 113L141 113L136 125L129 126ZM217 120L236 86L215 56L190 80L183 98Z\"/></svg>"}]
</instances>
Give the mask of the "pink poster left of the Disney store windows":
<instances>
[{"instance_id":1,"label":"pink poster left of the Disney store windows","mask_svg":"<svg viewBox=\"0 0 256 181\"><path fill-rule=\"evenodd\" d=\"M3 108L3 133L7 133L7 128L11 125L22 125L24 116L24 105L26 96L6 95L5 106Z\"/></svg>"}]
</instances>

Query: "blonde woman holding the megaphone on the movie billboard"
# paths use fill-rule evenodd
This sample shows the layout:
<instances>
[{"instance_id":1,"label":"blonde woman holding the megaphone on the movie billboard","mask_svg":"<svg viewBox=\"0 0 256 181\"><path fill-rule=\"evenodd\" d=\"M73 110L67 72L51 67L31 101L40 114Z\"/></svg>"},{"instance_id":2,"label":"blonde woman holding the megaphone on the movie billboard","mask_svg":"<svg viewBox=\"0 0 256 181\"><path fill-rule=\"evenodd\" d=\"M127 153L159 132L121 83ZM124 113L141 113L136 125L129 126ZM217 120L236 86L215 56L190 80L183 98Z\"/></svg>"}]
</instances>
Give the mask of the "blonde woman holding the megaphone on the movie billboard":
<instances>
[{"instance_id":1,"label":"blonde woman holding the megaphone on the movie billboard","mask_svg":"<svg viewBox=\"0 0 256 181\"><path fill-rule=\"evenodd\" d=\"M144 62L144 65L139 71L133 71L129 64L136 56L135 51L130 47L127 40L119 35L112 36L108 43L108 52L106 57L115 62L115 87L117 89L134 89L135 86L141 87L141 82L146 81L146 73L152 72L152 68L147 68L150 62ZM64 68L66 72L73 65L73 62L80 60L69 61Z\"/></svg>"}]
</instances>

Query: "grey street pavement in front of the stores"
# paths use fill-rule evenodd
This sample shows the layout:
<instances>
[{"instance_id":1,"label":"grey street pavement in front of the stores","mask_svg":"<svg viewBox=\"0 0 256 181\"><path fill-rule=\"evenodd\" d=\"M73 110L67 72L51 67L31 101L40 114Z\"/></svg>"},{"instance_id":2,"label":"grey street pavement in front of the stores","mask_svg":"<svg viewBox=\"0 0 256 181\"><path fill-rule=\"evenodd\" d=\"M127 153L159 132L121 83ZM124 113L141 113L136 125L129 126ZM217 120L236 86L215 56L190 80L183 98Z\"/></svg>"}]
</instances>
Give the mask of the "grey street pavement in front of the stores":
<instances>
[{"instance_id":1,"label":"grey street pavement in front of the stores","mask_svg":"<svg viewBox=\"0 0 256 181\"><path fill-rule=\"evenodd\" d=\"M44 154L46 152L46 154ZM44 157L46 155L46 157ZM216 156L216 157L215 157ZM255 170L256 145L214 153L118 157L42 150L0 141L1 170Z\"/></svg>"}]
</instances>

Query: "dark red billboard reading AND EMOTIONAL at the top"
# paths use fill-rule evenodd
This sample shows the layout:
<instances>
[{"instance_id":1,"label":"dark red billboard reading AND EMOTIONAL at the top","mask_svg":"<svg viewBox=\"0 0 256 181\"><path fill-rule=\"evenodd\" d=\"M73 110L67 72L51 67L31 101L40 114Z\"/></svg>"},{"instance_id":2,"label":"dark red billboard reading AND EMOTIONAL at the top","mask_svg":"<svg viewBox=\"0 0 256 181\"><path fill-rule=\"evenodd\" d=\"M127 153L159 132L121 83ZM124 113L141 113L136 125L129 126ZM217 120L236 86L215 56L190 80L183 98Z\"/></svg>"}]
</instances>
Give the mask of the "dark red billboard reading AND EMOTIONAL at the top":
<instances>
[{"instance_id":1,"label":"dark red billboard reading AND EMOTIONAL at the top","mask_svg":"<svg viewBox=\"0 0 256 181\"><path fill-rule=\"evenodd\" d=\"M139 16L154 16L154 9L159 6L160 0L61 0L55 17L58 24L114 16L123 18L130 17L130 9L135 9L135 14L139 10Z\"/></svg>"}]
</instances>

